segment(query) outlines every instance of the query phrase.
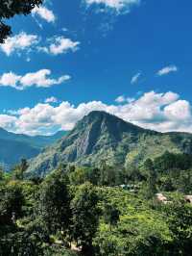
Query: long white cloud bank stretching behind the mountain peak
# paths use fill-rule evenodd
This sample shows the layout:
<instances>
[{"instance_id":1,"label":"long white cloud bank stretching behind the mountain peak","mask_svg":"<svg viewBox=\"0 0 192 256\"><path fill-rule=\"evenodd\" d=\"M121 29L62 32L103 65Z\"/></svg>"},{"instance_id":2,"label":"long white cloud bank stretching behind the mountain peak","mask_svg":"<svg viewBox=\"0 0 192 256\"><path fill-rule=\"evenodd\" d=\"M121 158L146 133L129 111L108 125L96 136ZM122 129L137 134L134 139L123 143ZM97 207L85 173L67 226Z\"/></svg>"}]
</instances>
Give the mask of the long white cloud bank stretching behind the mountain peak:
<instances>
[{"instance_id":1,"label":"long white cloud bank stretching behind the mountain peak","mask_svg":"<svg viewBox=\"0 0 192 256\"><path fill-rule=\"evenodd\" d=\"M101 101L82 103L75 107L69 102L57 106L37 104L0 115L0 126L16 133L48 135L60 129L71 130L76 122L91 111L106 111L143 128L160 132L192 131L191 105L174 92L150 91L132 102L107 105Z\"/></svg>"}]
</instances>

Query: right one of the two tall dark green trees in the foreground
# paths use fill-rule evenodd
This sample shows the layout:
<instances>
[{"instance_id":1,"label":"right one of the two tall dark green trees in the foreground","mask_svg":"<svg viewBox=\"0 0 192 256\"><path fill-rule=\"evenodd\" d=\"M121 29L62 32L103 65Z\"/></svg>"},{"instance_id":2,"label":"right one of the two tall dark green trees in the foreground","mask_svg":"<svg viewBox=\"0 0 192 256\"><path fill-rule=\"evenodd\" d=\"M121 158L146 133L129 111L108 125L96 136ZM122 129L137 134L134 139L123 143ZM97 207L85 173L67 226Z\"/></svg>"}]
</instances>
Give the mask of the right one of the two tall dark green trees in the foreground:
<instances>
[{"instance_id":1,"label":"right one of the two tall dark green trees in the foreground","mask_svg":"<svg viewBox=\"0 0 192 256\"><path fill-rule=\"evenodd\" d=\"M71 202L72 238L83 250L92 247L92 240L99 224L99 197L90 183L80 186Z\"/></svg>"}]
</instances>

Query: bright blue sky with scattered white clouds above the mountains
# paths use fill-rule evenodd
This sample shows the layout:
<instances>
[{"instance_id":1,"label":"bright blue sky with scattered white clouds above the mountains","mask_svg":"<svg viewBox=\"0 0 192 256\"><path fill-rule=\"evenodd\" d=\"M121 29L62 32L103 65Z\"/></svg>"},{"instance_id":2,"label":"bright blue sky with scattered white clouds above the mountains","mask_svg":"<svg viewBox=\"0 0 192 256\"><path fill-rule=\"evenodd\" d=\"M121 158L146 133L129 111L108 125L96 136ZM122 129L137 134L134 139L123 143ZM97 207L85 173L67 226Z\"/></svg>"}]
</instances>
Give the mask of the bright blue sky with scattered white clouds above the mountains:
<instances>
[{"instance_id":1,"label":"bright blue sky with scattered white clouds above the mountains","mask_svg":"<svg viewBox=\"0 0 192 256\"><path fill-rule=\"evenodd\" d=\"M106 111L159 132L192 132L192 2L47 0L0 45L0 126L71 130Z\"/></svg>"}]
</instances>

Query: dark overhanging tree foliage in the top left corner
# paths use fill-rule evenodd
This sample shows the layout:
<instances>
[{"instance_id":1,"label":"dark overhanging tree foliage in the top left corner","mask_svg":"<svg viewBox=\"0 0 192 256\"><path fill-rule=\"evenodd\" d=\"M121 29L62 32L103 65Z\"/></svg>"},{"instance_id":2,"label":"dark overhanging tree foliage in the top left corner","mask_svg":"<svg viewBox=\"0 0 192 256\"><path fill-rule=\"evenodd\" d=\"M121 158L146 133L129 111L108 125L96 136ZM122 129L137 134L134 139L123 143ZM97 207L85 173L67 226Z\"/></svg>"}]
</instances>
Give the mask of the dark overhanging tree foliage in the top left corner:
<instances>
[{"instance_id":1,"label":"dark overhanging tree foliage in the top left corner","mask_svg":"<svg viewBox=\"0 0 192 256\"><path fill-rule=\"evenodd\" d=\"M11 36L12 28L4 23L4 19L12 18L16 14L27 15L42 4L43 0L1 0L0 6L0 43Z\"/></svg>"}]
</instances>

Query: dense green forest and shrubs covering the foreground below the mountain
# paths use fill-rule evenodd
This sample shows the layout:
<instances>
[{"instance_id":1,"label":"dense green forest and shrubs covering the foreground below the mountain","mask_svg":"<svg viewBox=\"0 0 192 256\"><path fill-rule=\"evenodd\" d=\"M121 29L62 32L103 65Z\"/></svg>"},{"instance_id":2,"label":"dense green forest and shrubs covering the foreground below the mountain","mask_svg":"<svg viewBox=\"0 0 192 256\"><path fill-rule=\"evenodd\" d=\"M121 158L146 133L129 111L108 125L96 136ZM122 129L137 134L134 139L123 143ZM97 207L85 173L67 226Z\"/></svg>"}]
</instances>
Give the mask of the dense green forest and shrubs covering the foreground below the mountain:
<instances>
[{"instance_id":1,"label":"dense green forest and shrubs covering the foreground below the mountain","mask_svg":"<svg viewBox=\"0 0 192 256\"><path fill-rule=\"evenodd\" d=\"M189 155L140 169L60 165L43 179L27 167L1 170L0 255L190 255Z\"/></svg>"}]
</instances>

